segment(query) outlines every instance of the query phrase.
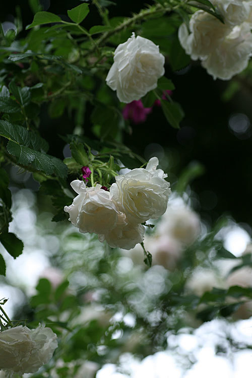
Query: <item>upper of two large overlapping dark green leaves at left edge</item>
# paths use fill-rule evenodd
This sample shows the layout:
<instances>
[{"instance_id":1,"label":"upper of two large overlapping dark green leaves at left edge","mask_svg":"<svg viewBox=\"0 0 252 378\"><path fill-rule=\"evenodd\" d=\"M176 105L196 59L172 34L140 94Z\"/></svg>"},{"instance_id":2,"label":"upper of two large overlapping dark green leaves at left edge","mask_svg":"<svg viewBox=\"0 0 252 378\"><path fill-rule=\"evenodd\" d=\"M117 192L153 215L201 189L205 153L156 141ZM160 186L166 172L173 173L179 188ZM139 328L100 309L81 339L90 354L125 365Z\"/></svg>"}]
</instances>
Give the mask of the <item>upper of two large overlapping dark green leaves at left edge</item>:
<instances>
[{"instance_id":1,"label":"upper of two large overlapping dark green leaves at left edge","mask_svg":"<svg viewBox=\"0 0 252 378\"><path fill-rule=\"evenodd\" d=\"M8 121L0 120L0 135L36 151L46 152L49 148L48 143L35 132Z\"/></svg>"}]
</instances>

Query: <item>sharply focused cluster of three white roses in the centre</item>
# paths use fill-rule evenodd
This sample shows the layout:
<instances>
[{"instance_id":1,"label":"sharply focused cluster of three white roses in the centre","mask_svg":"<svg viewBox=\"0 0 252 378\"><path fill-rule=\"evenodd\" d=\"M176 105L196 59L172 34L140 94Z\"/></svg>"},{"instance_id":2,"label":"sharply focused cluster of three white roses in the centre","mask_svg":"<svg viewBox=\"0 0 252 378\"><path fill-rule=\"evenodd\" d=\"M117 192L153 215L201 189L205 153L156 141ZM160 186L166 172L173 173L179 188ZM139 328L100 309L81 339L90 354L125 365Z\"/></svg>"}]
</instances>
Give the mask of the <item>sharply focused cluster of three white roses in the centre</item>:
<instances>
[{"instance_id":1,"label":"sharply focused cluster of three white roses in the centre","mask_svg":"<svg viewBox=\"0 0 252 378\"><path fill-rule=\"evenodd\" d=\"M83 181L72 181L78 196L64 208L69 220L80 232L96 233L111 247L133 248L144 239L145 227L141 223L159 218L167 208L170 184L157 166L158 159L153 157L146 168L116 176L110 192L100 184L87 187Z\"/></svg>"}]
</instances>

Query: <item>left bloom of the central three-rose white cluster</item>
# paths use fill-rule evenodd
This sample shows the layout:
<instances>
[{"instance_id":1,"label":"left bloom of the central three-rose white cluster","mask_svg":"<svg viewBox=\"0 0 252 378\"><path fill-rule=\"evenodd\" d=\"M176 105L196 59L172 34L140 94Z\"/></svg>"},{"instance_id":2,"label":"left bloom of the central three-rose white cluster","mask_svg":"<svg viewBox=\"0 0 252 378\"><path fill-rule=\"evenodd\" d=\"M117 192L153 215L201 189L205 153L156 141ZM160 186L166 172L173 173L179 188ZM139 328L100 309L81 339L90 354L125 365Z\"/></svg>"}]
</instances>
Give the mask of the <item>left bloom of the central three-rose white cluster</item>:
<instances>
[{"instance_id":1,"label":"left bloom of the central three-rose white cluster","mask_svg":"<svg viewBox=\"0 0 252 378\"><path fill-rule=\"evenodd\" d=\"M100 184L86 187L83 181L75 180L71 182L71 186L78 196L64 210L69 213L69 220L80 232L104 234L116 225L119 212L110 200L109 192L101 189Z\"/></svg>"}]
</instances>

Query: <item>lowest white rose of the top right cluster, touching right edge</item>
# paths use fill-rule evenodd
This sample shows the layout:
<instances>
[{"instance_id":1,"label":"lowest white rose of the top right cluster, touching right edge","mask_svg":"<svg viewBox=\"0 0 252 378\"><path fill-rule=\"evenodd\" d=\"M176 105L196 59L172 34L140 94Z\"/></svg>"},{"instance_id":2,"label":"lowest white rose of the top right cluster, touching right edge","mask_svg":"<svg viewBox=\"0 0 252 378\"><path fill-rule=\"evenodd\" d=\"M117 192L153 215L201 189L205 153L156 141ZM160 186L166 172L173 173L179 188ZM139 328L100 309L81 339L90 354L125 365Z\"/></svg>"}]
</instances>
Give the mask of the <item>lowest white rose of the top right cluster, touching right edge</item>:
<instances>
[{"instance_id":1,"label":"lowest white rose of the top right cluster, touching right edge","mask_svg":"<svg viewBox=\"0 0 252 378\"><path fill-rule=\"evenodd\" d=\"M243 22L235 26L231 33L202 62L202 66L214 77L229 80L243 71L252 55L251 25Z\"/></svg>"}]
</instances>

